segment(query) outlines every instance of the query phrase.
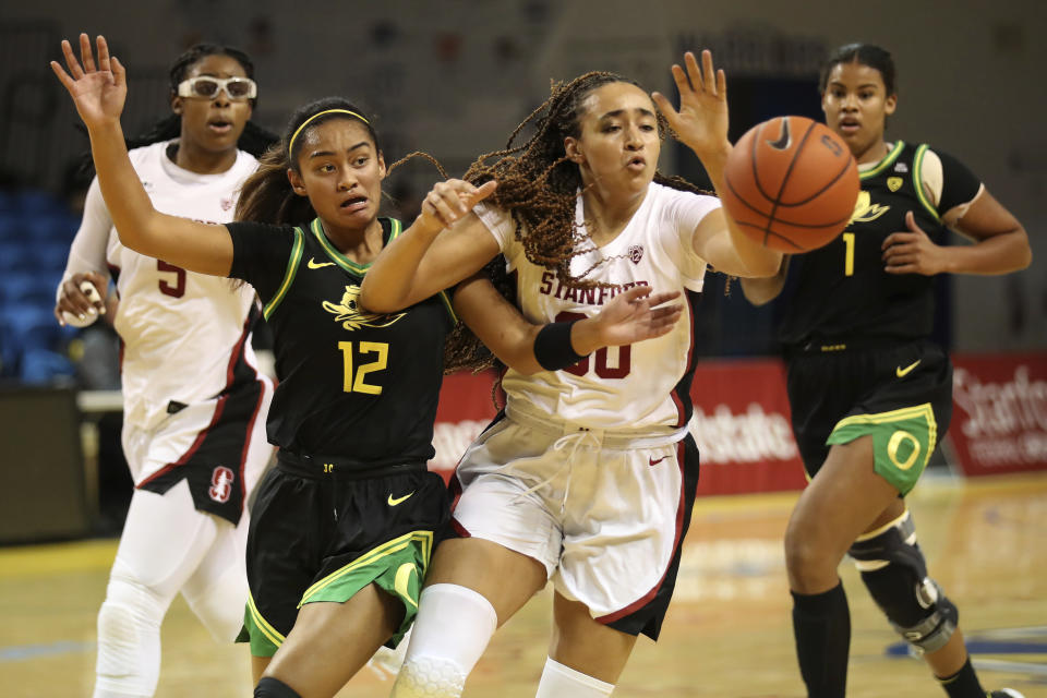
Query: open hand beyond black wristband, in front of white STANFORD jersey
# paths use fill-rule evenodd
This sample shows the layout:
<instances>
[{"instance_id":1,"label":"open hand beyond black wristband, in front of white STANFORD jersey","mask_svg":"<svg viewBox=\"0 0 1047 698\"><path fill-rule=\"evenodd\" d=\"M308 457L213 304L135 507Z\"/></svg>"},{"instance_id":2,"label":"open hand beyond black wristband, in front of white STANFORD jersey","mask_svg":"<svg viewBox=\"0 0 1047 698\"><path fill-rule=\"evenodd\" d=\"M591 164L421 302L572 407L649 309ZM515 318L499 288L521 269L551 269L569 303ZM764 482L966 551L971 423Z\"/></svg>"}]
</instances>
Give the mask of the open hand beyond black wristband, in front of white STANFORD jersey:
<instances>
[{"instance_id":1,"label":"open hand beyond black wristband, in front of white STANFORD jersey","mask_svg":"<svg viewBox=\"0 0 1047 698\"><path fill-rule=\"evenodd\" d=\"M679 291L654 293L650 286L635 286L618 293L593 317L601 345L618 347L666 334L684 306L665 303L678 297Z\"/></svg>"}]
</instances>

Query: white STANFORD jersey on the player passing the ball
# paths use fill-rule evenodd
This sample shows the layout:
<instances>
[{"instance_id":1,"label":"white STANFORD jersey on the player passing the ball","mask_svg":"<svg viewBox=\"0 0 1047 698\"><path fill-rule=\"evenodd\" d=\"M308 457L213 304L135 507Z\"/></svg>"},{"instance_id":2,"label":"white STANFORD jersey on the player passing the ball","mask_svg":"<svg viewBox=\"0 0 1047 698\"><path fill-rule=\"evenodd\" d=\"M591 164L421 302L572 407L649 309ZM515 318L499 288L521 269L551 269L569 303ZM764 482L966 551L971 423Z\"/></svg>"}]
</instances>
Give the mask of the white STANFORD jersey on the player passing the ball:
<instances>
[{"instance_id":1,"label":"white STANFORD jersey on the player passing the ball","mask_svg":"<svg viewBox=\"0 0 1047 698\"><path fill-rule=\"evenodd\" d=\"M602 248L579 243L585 253L571 260L573 276L597 265L585 278L612 288L570 289L554 272L527 260L516 239L516 224L504 212L478 206L477 213L516 274L517 296L524 315L534 323L559 322L595 315L624 289L638 285L654 292L700 291L706 262L693 244L701 219L720 206L720 200L651 183L640 207L618 236ZM583 221L581 197L576 222ZM561 371L522 375L512 369L502 386L508 410L526 410L604 430L661 431L683 426L689 386L681 385L693 362L690 304L667 335L627 347L606 347L578 364Z\"/></svg>"}]
</instances>

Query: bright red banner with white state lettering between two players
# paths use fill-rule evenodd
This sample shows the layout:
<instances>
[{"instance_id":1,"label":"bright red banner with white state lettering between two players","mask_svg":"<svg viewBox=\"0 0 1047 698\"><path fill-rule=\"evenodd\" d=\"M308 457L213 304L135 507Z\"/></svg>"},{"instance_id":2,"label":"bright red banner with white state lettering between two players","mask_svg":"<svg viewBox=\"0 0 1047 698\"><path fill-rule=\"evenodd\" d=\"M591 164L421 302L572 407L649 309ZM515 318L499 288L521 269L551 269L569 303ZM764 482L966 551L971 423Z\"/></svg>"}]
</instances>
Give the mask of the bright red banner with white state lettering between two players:
<instances>
[{"instance_id":1,"label":"bright red banner with white state lettering between two players","mask_svg":"<svg viewBox=\"0 0 1047 698\"><path fill-rule=\"evenodd\" d=\"M699 496L804 488L781 361L699 361L690 397Z\"/></svg>"}]
</instances>

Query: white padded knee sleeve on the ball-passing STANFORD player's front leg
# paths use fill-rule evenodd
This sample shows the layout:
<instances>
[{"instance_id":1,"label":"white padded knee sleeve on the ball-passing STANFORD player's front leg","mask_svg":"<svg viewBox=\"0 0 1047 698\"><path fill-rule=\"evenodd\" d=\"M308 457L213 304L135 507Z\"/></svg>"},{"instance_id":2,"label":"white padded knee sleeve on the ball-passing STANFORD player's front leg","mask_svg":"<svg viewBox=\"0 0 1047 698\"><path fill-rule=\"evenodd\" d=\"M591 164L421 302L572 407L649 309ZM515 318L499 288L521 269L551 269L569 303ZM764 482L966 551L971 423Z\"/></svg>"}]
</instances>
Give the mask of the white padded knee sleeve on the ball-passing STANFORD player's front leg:
<instances>
[{"instance_id":1,"label":"white padded knee sleeve on the ball-passing STANFORD player's front leg","mask_svg":"<svg viewBox=\"0 0 1047 698\"><path fill-rule=\"evenodd\" d=\"M393 698L457 698L498 627L494 606L458 585L422 589Z\"/></svg>"}]
</instances>

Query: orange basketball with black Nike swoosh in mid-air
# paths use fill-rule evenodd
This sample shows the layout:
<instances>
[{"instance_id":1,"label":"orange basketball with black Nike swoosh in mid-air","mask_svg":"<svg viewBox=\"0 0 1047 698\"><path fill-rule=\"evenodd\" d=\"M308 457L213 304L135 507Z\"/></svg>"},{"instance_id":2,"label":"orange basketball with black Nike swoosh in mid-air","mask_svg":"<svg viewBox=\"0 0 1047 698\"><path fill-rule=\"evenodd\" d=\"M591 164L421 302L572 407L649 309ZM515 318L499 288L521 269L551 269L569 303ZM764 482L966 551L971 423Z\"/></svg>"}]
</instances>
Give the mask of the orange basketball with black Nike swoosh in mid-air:
<instances>
[{"instance_id":1,"label":"orange basketball with black Nike swoosh in mid-air","mask_svg":"<svg viewBox=\"0 0 1047 698\"><path fill-rule=\"evenodd\" d=\"M724 169L721 200L742 231L796 254L828 244L858 197L858 168L846 144L806 117L775 117L743 135Z\"/></svg>"}]
</instances>

